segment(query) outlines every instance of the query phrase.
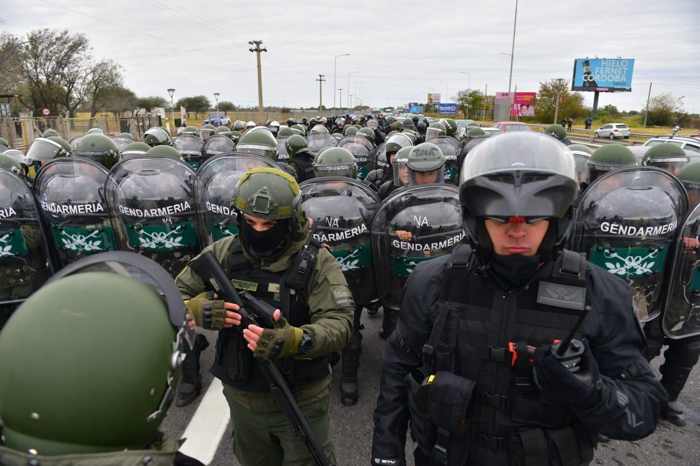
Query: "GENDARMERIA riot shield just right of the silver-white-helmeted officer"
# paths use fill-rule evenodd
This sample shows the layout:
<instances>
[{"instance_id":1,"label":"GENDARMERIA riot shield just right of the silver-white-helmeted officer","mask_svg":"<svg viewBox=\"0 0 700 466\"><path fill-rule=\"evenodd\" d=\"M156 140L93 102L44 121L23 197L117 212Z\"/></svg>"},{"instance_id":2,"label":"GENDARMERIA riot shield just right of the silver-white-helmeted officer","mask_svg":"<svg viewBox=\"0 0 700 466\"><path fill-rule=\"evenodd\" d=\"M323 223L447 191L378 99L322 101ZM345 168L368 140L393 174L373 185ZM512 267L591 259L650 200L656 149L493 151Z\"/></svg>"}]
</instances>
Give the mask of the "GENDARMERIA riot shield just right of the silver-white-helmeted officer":
<instances>
[{"instance_id":1,"label":"GENDARMERIA riot shield just right of the silver-white-helmeted officer","mask_svg":"<svg viewBox=\"0 0 700 466\"><path fill-rule=\"evenodd\" d=\"M687 208L682 184L647 166L608 173L580 197L573 249L629 284L642 322L663 311L667 269Z\"/></svg>"}]
</instances>

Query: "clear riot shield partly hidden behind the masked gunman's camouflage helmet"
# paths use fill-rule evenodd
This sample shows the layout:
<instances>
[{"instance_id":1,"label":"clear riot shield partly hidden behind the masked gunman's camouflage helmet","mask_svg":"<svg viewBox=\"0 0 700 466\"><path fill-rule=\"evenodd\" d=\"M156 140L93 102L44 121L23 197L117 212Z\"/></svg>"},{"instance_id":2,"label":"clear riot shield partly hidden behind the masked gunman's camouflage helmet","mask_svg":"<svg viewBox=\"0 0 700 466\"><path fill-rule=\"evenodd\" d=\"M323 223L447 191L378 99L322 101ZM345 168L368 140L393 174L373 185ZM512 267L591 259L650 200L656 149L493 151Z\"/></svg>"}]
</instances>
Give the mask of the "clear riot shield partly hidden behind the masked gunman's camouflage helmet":
<instances>
[{"instance_id":1,"label":"clear riot shield partly hidden behind the masked gunman's camouflage helmet","mask_svg":"<svg viewBox=\"0 0 700 466\"><path fill-rule=\"evenodd\" d=\"M197 231L202 248L238 233L231 195L238 180L251 168L277 168L274 161L257 154L223 154L202 163L195 177Z\"/></svg>"}]
</instances>

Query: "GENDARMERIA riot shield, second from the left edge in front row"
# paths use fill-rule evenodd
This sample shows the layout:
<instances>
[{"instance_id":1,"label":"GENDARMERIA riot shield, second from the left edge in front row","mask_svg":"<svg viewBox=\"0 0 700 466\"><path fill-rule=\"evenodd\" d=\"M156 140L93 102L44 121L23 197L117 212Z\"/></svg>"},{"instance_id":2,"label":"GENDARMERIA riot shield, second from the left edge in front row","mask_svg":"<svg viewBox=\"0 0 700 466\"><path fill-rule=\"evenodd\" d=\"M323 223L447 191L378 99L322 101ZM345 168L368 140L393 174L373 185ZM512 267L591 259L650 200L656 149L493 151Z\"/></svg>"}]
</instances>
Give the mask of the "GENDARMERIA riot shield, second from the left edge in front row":
<instances>
[{"instance_id":1,"label":"GENDARMERIA riot shield, second from the left edge in front row","mask_svg":"<svg viewBox=\"0 0 700 466\"><path fill-rule=\"evenodd\" d=\"M57 267L83 256L116 251L99 163L74 157L49 161L34 180L34 193Z\"/></svg>"}]
</instances>

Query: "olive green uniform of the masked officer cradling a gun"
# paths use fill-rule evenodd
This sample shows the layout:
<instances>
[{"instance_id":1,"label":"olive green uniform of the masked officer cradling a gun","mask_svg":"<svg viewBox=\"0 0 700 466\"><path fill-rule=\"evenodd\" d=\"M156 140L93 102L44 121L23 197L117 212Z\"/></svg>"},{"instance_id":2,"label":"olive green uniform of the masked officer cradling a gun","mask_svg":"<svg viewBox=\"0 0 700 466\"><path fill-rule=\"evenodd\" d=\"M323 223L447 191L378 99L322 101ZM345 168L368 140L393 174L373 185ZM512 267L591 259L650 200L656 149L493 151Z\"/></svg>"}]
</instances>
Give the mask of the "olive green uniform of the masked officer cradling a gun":
<instances>
[{"instance_id":1,"label":"olive green uniform of the masked officer cradling a gun","mask_svg":"<svg viewBox=\"0 0 700 466\"><path fill-rule=\"evenodd\" d=\"M249 254L246 247L243 247L243 252L255 267L281 272L289 267L290 259L302 249L308 238L309 221L303 219L302 227L293 231L286 249L277 256L258 259ZM234 240L235 236L223 238L204 251L210 249L214 252L223 268L228 269ZM178 275L175 282L184 300L205 291L202 280L189 267ZM316 255L316 265L307 286L307 304L311 323L300 328L311 337L313 347L304 358L328 356L342 349L352 334L354 303L337 261L326 249L320 249ZM295 388L295 396L319 444L332 460L333 445L328 433L331 379L329 374ZM309 464L307 449L295 438L271 393L248 392L228 385L224 385L223 393L231 410L234 451L242 464Z\"/></svg>"}]
</instances>

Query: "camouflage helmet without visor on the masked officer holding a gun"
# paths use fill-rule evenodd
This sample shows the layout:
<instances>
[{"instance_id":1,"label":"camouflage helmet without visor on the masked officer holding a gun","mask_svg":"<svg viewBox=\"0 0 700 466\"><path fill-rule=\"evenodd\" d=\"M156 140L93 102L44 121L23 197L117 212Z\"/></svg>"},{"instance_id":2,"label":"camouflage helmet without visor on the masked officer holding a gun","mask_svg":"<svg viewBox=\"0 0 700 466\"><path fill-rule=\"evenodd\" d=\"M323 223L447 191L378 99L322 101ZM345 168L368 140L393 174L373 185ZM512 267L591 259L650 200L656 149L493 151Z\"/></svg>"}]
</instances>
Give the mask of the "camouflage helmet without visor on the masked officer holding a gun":
<instances>
[{"instance_id":1,"label":"camouflage helmet without visor on the masked officer holding a gun","mask_svg":"<svg viewBox=\"0 0 700 466\"><path fill-rule=\"evenodd\" d=\"M253 168L236 184L231 207L251 217L302 221L299 184L279 168Z\"/></svg>"}]
</instances>

